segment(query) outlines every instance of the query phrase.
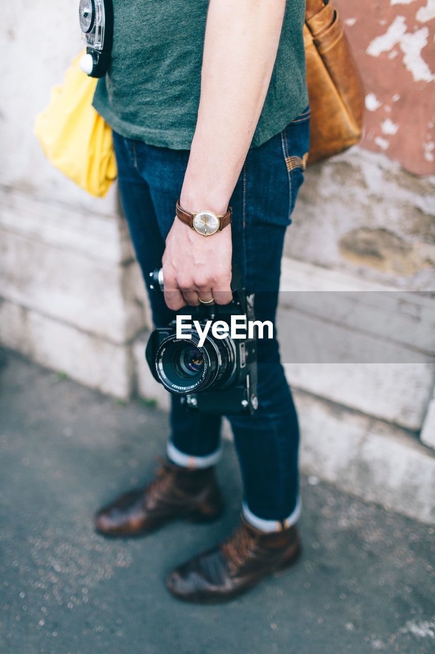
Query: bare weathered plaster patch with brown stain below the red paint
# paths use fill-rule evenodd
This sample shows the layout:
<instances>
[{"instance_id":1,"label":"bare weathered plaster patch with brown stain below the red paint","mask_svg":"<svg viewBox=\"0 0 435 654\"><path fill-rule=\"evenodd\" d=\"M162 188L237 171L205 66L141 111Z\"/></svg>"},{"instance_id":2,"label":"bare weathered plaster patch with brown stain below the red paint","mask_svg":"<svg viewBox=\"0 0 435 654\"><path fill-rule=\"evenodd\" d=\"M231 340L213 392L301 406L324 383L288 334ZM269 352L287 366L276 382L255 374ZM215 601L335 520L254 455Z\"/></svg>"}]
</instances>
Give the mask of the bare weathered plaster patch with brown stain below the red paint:
<instances>
[{"instance_id":1,"label":"bare weathered plaster patch with brown stain below the red paint","mask_svg":"<svg viewBox=\"0 0 435 654\"><path fill-rule=\"evenodd\" d=\"M308 167L285 254L355 279L434 291L435 178L362 147Z\"/></svg>"}]
</instances>

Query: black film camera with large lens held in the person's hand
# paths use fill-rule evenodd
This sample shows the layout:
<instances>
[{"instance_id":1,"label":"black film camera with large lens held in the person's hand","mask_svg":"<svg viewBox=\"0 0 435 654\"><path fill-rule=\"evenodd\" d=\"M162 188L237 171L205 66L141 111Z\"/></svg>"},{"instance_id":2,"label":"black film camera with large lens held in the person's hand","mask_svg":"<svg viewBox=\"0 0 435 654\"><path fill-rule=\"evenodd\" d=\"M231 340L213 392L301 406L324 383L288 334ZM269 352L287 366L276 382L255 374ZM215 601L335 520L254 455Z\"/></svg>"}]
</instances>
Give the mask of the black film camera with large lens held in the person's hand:
<instances>
[{"instance_id":1,"label":"black film camera with large lens held in the person's hand","mask_svg":"<svg viewBox=\"0 0 435 654\"><path fill-rule=\"evenodd\" d=\"M161 270L150 273L150 287L163 291ZM240 271L233 266L233 301L227 305L187 306L177 312L190 315L192 329L184 329L191 339L176 337L176 320L155 329L146 346L146 360L153 376L171 393L182 396L187 409L199 413L250 415L257 409L256 338L219 339L209 329L204 343L193 326L198 320L203 329L208 320L231 324L231 316L244 316L246 324L254 320L253 295L240 284ZM242 330L243 331L243 330ZM248 328L246 328L248 335Z\"/></svg>"}]
</instances>

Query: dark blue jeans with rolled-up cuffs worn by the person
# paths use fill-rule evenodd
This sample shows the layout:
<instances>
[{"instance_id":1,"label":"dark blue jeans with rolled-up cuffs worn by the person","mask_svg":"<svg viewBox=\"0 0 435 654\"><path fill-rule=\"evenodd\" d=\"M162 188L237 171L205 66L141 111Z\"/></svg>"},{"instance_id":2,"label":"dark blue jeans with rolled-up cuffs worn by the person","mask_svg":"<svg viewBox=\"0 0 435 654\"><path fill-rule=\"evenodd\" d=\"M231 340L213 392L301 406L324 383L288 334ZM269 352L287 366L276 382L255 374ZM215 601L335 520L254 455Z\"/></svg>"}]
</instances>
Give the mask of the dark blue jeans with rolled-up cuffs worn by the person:
<instances>
[{"instance_id":1,"label":"dark blue jeans with rolled-up cuffs worn by the person","mask_svg":"<svg viewBox=\"0 0 435 654\"><path fill-rule=\"evenodd\" d=\"M242 270L245 288L255 293L259 320L274 321L276 314L283 241L303 181L309 116L307 109L270 141L249 150L230 201L233 262ZM114 144L123 207L148 283L148 273L161 266L189 151L150 146L117 133ZM157 326L174 318L163 296L151 292L150 302ZM229 417L244 483L244 508L259 519L283 523L297 506L298 421L276 339L259 340L257 391L254 415ZM172 395L170 421L172 451L189 461L216 460L220 416L189 413Z\"/></svg>"}]
</instances>

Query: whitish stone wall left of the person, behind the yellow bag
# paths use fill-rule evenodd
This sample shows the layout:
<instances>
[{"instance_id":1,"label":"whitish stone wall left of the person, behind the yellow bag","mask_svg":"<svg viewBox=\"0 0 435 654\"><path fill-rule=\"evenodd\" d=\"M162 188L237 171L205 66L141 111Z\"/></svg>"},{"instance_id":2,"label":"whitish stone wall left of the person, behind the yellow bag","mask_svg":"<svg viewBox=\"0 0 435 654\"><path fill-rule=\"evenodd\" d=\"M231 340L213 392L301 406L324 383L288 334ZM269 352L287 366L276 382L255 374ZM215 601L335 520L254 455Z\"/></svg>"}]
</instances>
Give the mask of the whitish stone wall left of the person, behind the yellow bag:
<instances>
[{"instance_id":1,"label":"whitish stone wall left of the person, behind the yellow bag","mask_svg":"<svg viewBox=\"0 0 435 654\"><path fill-rule=\"evenodd\" d=\"M1 27L0 339L121 398L144 290L114 186L105 199L48 163L33 122L82 49L78 2L18 0Z\"/></svg>"}]
</instances>

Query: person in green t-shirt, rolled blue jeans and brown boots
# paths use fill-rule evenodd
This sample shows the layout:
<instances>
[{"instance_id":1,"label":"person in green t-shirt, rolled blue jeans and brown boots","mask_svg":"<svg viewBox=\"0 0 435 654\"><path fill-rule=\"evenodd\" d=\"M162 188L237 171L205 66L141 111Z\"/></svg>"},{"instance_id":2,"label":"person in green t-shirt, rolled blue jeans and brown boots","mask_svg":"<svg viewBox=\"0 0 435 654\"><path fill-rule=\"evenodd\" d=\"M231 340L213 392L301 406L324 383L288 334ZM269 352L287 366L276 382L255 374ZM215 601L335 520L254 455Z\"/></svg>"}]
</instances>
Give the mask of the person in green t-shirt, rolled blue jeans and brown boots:
<instances>
[{"instance_id":1,"label":"person in green t-shirt, rolled blue jeans and brown boots","mask_svg":"<svg viewBox=\"0 0 435 654\"><path fill-rule=\"evenodd\" d=\"M275 318L308 151L304 9L304 0L114 0L112 60L94 106L114 129L145 279L163 265L164 301L150 296L157 325L186 304L231 301L231 262L256 294L256 318ZM218 217L213 235L191 226L190 215L229 207L231 224ZM167 587L181 599L227 600L297 559L298 422L276 339L259 340L257 391L252 416L229 418L244 483L240 525L170 572ZM172 396L171 426L157 479L101 509L99 532L144 534L170 519L219 515L220 417L187 413Z\"/></svg>"}]
</instances>

